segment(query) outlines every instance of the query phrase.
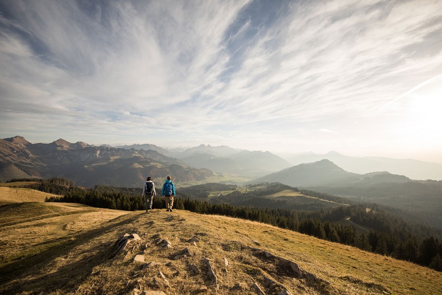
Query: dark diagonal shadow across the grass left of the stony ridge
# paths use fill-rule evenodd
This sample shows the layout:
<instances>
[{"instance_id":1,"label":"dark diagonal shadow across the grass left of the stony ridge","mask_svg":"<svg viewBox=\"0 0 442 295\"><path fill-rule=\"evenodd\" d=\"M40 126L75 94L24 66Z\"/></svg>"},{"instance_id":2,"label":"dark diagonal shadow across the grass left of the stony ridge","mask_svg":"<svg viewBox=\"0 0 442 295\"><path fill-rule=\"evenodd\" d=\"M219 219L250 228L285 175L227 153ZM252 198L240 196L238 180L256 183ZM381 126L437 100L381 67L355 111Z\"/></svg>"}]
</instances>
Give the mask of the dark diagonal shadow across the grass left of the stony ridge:
<instances>
[{"instance_id":1,"label":"dark diagonal shadow across the grass left of the stony ridge","mask_svg":"<svg viewBox=\"0 0 442 295\"><path fill-rule=\"evenodd\" d=\"M103 261L110 259L113 247L103 248L102 244L88 248L81 260L68 263L55 272L45 273L42 270L57 257L66 256L74 247L80 246L94 238L103 235L119 226L124 226L140 218L134 215L117 223L99 229L67 236L58 241L57 245L39 253L34 253L21 259L16 259L0 267L0 292L2 294L16 293L48 293L58 290L62 293L74 291L89 275L92 269ZM74 237L75 239L71 239ZM90 254L97 253L97 254ZM28 277L28 279L25 279Z\"/></svg>"}]
</instances>

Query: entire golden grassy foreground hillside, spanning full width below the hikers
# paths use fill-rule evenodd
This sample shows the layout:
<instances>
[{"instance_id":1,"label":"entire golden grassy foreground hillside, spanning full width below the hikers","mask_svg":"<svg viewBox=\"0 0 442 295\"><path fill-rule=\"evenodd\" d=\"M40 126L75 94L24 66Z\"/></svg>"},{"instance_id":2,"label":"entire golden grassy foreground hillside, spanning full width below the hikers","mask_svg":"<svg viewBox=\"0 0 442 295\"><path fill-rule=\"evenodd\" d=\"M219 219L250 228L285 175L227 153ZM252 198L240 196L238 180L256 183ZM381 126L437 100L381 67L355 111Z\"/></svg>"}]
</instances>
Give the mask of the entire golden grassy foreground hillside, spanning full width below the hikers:
<instances>
[{"instance_id":1,"label":"entire golden grassy foreground hillside, spanning full width below the hikers","mask_svg":"<svg viewBox=\"0 0 442 295\"><path fill-rule=\"evenodd\" d=\"M266 294L283 288L292 294L442 294L442 273L248 220L159 209L116 217L124 212L75 204L0 209L3 293L256 294L256 283ZM126 233L141 240L113 257L115 241ZM195 236L199 241L190 242ZM153 263L142 269L136 255ZM286 260L299 265L302 277Z\"/></svg>"}]
</instances>

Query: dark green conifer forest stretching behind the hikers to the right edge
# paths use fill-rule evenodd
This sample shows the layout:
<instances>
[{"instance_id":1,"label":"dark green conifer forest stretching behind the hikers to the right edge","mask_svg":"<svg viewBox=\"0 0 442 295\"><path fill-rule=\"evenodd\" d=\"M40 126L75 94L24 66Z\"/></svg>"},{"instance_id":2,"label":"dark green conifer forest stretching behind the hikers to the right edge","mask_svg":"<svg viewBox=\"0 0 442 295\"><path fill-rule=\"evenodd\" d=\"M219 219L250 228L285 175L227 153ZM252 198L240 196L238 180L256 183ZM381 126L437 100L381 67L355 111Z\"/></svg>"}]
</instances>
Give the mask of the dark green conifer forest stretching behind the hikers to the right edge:
<instances>
[{"instance_id":1,"label":"dark green conifer forest stretching behind the hikers to the right edge","mask_svg":"<svg viewBox=\"0 0 442 295\"><path fill-rule=\"evenodd\" d=\"M145 208L140 188L96 186L93 189L87 189L75 187L72 181L61 178L43 180L40 185L34 188L62 196L48 198L47 202L79 203L98 208L127 211L144 210ZM245 199L259 198L264 194L282 189L287 189L287 186L280 183L268 183L265 188L256 191L246 193L232 191L231 195L227 194L227 198L223 200L242 197ZM160 191L158 188L156 190L159 196ZM312 191L303 191L303 193L341 201L339 197ZM241 196L242 194L245 196ZM397 209L395 212L394 209L376 204L353 203L349 206L308 211L285 207L277 208L275 204L264 207L262 203L261 206L236 206L227 202L220 203L219 198L214 199L217 203L201 198L202 196L180 193L177 189L174 209L185 209L202 214L226 215L266 223L442 271L442 244L440 243L442 231L419 225L413 220L407 220L400 215ZM262 201L265 202L264 199ZM153 208L165 208L162 198L154 198ZM367 210L367 208L371 208L371 210ZM367 228L368 231L358 232L353 226L340 223L341 220L348 217L353 223Z\"/></svg>"}]
</instances>

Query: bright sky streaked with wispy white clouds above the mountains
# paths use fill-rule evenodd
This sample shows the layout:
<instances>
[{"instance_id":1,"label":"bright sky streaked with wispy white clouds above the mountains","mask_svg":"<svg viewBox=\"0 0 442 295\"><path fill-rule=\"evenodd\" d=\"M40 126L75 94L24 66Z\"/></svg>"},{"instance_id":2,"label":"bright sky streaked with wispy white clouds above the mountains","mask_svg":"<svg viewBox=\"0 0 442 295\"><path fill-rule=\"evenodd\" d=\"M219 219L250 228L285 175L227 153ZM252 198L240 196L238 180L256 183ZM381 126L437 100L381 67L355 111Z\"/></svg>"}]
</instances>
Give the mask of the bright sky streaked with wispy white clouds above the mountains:
<instances>
[{"instance_id":1,"label":"bright sky streaked with wispy white clouds above the mountains","mask_svg":"<svg viewBox=\"0 0 442 295\"><path fill-rule=\"evenodd\" d=\"M0 0L0 137L442 163L442 1Z\"/></svg>"}]
</instances>

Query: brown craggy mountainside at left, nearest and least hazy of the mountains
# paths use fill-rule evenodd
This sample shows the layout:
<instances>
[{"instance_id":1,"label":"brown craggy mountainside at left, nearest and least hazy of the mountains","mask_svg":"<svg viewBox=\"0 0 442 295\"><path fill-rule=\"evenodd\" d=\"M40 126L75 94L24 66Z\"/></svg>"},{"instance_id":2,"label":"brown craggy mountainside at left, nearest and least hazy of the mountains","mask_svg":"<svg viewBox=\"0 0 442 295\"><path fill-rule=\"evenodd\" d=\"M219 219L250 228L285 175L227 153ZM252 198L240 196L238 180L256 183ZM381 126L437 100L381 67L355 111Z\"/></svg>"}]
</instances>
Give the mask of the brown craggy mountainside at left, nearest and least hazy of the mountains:
<instances>
[{"instance_id":1,"label":"brown craggy mountainside at left, nearest and least hazy of the mountains","mask_svg":"<svg viewBox=\"0 0 442 295\"><path fill-rule=\"evenodd\" d=\"M173 175L180 182L203 180L213 172L152 150L115 149L63 139L34 144L20 136L0 139L0 179L55 176L84 187L139 187L148 175L161 179Z\"/></svg>"}]
</instances>

